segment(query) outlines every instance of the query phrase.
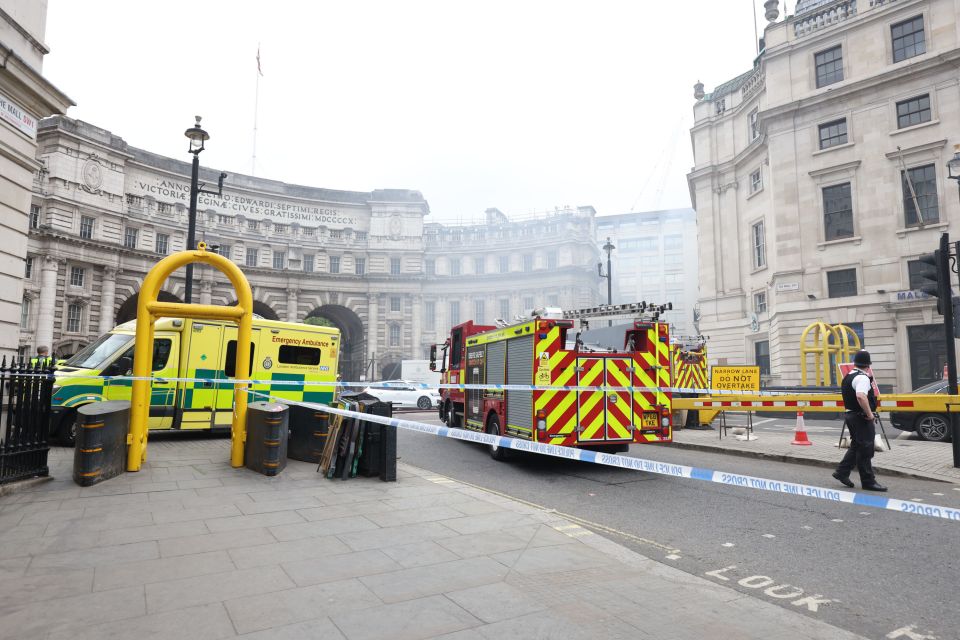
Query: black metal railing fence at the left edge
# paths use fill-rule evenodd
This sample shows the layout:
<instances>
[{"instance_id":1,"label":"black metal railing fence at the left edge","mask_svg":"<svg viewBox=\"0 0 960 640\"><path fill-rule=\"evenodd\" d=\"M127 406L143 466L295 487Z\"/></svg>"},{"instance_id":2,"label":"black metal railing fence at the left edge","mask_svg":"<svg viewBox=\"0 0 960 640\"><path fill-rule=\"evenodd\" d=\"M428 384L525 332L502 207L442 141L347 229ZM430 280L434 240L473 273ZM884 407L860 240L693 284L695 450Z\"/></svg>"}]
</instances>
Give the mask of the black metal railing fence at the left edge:
<instances>
[{"instance_id":1,"label":"black metal railing fence at the left edge","mask_svg":"<svg viewBox=\"0 0 960 640\"><path fill-rule=\"evenodd\" d=\"M51 362L0 362L0 484L50 473Z\"/></svg>"}]
</instances>

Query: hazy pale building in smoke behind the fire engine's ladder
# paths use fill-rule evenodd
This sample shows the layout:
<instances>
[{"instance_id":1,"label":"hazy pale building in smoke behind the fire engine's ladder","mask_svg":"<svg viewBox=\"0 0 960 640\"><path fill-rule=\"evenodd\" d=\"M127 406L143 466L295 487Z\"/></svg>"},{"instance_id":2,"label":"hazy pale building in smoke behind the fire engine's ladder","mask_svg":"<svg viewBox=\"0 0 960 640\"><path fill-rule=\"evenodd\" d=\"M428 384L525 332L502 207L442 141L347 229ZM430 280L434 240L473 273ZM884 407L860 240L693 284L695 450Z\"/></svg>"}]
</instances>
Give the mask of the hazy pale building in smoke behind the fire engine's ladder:
<instances>
[{"instance_id":1,"label":"hazy pale building in smoke behind the fire engine's ladder","mask_svg":"<svg viewBox=\"0 0 960 640\"><path fill-rule=\"evenodd\" d=\"M597 218L597 246L607 238L613 272L613 303L670 302L663 317L674 336L696 335L697 217L692 209L642 211ZM606 252L601 260L606 269ZM600 298L607 301L606 280Z\"/></svg>"}]
</instances>

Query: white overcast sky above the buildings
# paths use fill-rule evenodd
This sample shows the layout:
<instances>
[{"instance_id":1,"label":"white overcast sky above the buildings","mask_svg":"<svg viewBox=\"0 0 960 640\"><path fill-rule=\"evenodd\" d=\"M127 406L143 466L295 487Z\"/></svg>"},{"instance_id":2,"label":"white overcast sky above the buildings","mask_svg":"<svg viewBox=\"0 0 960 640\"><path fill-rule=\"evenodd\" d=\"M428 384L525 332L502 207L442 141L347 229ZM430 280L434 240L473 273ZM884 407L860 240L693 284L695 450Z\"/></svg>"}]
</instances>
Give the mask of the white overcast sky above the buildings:
<instances>
[{"instance_id":1,"label":"white overcast sky above the buildings","mask_svg":"<svg viewBox=\"0 0 960 640\"><path fill-rule=\"evenodd\" d=\"M415 189L451 222L610 215L690 206L693 85L750 68L762 4L49 0L44 75L184 161L203 116L227 173Z\"/></svg>"}]
</instances>

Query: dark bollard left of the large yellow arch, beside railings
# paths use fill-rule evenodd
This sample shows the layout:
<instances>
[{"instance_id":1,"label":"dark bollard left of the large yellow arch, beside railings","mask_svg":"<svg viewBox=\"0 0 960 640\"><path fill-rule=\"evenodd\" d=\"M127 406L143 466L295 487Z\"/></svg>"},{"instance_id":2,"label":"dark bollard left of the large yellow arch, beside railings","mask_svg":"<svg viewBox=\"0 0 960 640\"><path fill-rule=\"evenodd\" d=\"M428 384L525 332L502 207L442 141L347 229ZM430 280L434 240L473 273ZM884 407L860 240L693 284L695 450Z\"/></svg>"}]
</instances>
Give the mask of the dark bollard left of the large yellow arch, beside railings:
<instances>
[{"instance_id":1,"label":"dark bollard left of the large yellow arch, beside railings","mask_svg":"<svg viewBox=\"0 0 960 640\"><path fill-rule=\"evenodd\" d=\"M89 487L124 472L130 401L93 402L77 409L73 481Z\"/></svg>"}]
</instances>

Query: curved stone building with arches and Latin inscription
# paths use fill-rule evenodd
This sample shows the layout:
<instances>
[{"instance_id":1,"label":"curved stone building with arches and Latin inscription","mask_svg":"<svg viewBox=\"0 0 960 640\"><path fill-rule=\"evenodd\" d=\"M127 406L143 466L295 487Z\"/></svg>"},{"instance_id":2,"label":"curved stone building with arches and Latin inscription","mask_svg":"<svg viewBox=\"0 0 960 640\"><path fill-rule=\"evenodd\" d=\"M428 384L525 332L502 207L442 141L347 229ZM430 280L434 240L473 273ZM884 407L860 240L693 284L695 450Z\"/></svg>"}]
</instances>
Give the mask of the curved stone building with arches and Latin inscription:
<instances>
[{"instance_id":1,"label":"curved stone building with arches and Latin inscription","mask_svg":"<svg viewBox=\"0 0 960 640\"><path fill-rule=\"evenodd\" d=\"M134 318L147 271L184 249L190 165L63 116L42 121L38 141L20 345L49 343L62 356ZM209 190L218 175L201 169L200 181ZM492 320L553 296L593 303L591 208L545 226L502 214L478 226L425 224L428 213L418 191L230 175L222 196L200 195L197 239L243 268L260 315L339 327L345 380L395 376L450 322ZM182 301L183 275L162 299ZM197 266L194 280L195 302L235 302L218 272Z\"/></svg>"}]
</instances>

